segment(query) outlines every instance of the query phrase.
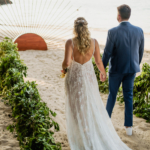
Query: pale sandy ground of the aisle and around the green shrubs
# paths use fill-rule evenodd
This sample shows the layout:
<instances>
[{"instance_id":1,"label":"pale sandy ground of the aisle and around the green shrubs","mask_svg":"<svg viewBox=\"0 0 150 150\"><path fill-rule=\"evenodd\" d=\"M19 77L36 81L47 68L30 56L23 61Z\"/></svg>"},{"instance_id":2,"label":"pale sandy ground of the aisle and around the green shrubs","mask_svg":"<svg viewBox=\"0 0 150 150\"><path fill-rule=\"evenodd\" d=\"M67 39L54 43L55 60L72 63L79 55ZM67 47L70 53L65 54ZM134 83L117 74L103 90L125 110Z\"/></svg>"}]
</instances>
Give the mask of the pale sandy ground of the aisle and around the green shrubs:
<instances>
[{"instance_id":1,"label":"pale sandy ground of the aisle and around the green shrubs","mask_svg":"<svg viewBox=\"0 0 150 150\"><path fill-rule=\"evenodd\" d=\"M28 76L25 81L36 81L41 98L47 106L57 113L55 120L60 125L60 131L55 134L56 141L62 143L62 150L70 150L66 135L64 79L60 78L61 63L64 57L63 50L48 51L20 51L21 59L28 67ZM150 54L145 53L142 63L150 64ZM107 96L101 94L104 104ZM0 150L18 150L19 145L6 126L12 120L8 117L10 108L0 101ZM118 102L112 115L113 125L122 139L133 150L150 150L150 124L144 119L134 116L133 136L127 136L124 130L124 106Z\"/></svg>"}]
</instances>

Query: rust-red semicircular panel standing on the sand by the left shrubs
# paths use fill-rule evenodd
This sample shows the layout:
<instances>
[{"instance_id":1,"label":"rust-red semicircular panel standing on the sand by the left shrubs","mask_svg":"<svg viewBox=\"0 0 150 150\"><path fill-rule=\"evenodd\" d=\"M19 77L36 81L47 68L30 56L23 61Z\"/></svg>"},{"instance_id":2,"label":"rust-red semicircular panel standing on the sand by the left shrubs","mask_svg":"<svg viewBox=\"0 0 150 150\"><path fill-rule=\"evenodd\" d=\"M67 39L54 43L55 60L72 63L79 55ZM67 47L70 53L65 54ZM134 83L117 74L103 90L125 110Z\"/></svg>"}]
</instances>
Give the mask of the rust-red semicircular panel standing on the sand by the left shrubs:
<instances>
[{"instance_id":1,"label":"rust-red semicircular panel standing on the sand by the left shrubs","mask_svg":"<svg viewBox=\"0 0 150 150\"><path fill-rule=\"evenodd\" d=\"M14 43L18 43L18 50L47 50L47 44L44 39L34 33L26 33L19 36Z\"/></svg>"}]
</instances>

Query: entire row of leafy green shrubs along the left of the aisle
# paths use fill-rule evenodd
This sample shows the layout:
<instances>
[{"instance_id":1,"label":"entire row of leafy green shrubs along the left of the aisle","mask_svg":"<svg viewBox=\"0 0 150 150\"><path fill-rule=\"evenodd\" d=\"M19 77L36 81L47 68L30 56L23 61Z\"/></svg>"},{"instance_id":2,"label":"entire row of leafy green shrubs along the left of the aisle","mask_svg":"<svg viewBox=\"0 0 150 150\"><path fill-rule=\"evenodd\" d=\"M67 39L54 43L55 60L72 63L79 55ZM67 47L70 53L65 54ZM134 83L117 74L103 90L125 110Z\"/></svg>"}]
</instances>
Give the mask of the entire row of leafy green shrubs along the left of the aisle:
<instances>
[{"instance_id":1,"label":"entire row of leafy green shrubs along the left of the aisle","mask_svg":"<svg viewBox=\"0 0 150 150\"><path fill-rule=\"evenodd\" d=\"M27 67L17 50L7 37L0 43L0 93L5 104L11 106L14 118L7 129L17 133L21 150L61 150L61 144L53 138L59 131L53 120L56 113L41 101L35 82L24 82Z\"/></svg>"}]
</instances>

